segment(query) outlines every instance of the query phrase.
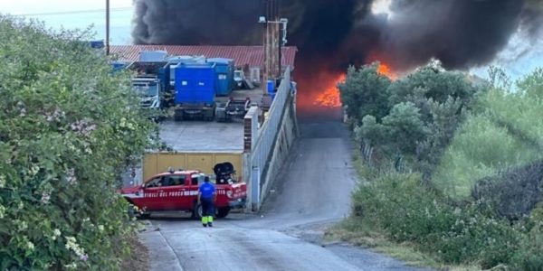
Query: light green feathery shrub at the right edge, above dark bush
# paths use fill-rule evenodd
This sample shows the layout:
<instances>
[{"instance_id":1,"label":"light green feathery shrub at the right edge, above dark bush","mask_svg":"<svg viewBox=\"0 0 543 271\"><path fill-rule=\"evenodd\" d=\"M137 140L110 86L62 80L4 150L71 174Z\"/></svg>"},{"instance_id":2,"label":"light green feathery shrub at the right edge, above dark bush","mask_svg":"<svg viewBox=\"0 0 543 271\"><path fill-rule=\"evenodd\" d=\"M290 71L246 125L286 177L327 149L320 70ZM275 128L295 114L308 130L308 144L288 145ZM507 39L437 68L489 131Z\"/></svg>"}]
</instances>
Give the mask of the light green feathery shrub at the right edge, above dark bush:
<instances>
[{"instance_id":1,"label":"light green feathery shrub at the right edge, above dark bush","mask_svg":"<svg viewBox=\"0 0 543 271\"><path fill-rule=\"evenodd\" d=\"M433 183L456 199L474 184L543 158L543 70L517 82L518 91L491 89L479 97L443 154Z\"/></svg>"}]
</instances>

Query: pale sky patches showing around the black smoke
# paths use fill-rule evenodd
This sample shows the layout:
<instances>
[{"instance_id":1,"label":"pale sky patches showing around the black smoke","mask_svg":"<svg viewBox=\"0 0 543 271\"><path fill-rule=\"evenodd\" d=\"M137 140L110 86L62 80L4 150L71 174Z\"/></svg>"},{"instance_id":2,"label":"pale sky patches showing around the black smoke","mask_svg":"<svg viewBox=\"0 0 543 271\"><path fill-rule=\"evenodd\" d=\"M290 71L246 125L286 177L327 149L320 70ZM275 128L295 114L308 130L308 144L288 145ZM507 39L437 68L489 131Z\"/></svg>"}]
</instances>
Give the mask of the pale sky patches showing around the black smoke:
<instances>
[{"instance_id":1,"label":"pale sky patches showing around the black smoke","mask_svg":"<svg viewBox=\"0 0 543 271\"><path fill-rule=\"evenodd\" d=\"M218 1L218 0L217 0ZM390 13L392 0L378 0L372 6L376 14ZM0 14L23 15L44 21L53 29L85 29L93 25L95 39L105 39L105 0L2 0ZM110 0L110 42L131 43L132 0ZM543 66L543 37L527 41L519 35L511 38L510 44L490 63L503 67L511 79L519 79L529 71ZM486 78L488 66L471 71Z\"/></svg>"}]
</instances>

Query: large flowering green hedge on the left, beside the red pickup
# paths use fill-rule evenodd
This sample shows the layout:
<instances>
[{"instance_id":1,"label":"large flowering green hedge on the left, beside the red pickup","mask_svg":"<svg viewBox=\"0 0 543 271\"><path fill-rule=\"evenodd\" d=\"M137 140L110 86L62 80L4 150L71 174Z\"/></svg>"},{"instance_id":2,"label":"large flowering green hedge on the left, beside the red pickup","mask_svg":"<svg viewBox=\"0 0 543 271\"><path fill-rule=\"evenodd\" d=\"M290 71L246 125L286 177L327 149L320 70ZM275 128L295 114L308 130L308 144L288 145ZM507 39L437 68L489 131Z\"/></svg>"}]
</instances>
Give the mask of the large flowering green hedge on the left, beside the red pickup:
<instances>
[{"instance_id":1,"label":"large flowering green hedge on the left, beside the red pickup","mask_svg":"<svg viewBox=\"0 0 543 271\"><path fill-rule=\"evenodd\" d=\"M116 270L129 257L119 174L155 125L86 38L0 15L0 270Z\"/></svg>"}]
</instances>

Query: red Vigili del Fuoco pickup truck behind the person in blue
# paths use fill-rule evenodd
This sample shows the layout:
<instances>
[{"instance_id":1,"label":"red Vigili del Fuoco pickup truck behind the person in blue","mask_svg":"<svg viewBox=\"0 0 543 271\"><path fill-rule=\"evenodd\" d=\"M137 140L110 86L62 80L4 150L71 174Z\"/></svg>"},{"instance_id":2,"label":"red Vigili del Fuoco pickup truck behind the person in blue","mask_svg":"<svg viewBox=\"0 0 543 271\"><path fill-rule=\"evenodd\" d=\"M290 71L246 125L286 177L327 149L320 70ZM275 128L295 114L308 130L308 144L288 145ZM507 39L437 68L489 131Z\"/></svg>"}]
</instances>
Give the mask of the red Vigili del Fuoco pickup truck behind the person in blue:
<instances>
[{"instance_id":1,"label":"red Vigili del Fuoco pickup truck behind the person in blue","mask_svg":"<svg viewBox=\"0 0 543 271\"><path fill-rule=\"evenodd\" d=\"M224 218L231 210L245 208L247 185L236 180L231 163L214 165L215 191L217 193L215 217ZM120 190L129 201L129 215L147 219L157 212L188 211L195 219L202 217L198 203L198 189L205 173L197 170L168 169L166 173L152 176L143 184Z\"/></svg>"}]
</instances>

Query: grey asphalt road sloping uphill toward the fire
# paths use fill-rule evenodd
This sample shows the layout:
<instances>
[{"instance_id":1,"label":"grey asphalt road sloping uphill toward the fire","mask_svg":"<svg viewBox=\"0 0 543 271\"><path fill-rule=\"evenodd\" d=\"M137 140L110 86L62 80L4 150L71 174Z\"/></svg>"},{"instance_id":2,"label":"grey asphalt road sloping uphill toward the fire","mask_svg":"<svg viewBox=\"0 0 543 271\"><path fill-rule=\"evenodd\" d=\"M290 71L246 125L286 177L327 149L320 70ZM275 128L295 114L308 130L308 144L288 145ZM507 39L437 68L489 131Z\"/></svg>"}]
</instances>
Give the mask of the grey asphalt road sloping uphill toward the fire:
<instances>
[{"instance_id":1,"label":"grey asphalt road sloping uphill toward the fire","mask_svg":"<svg viewBox=\"0 0 543 271\"><path fill-rule=\"evenodd\" d=\"M338 121L300 122L291 159L259 214L231 214L203 228L188 215L155 217L155 237L171 251L153 270L420 270L367 249L321 243L323 230L350 210L356 184L347 128ZM162 249L162 250L164 250ZM161 251L162 251L161 250Z\"/></svg>"}]
</instances>

